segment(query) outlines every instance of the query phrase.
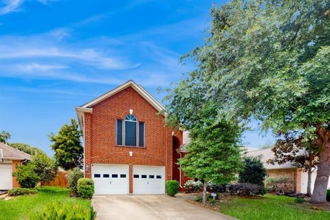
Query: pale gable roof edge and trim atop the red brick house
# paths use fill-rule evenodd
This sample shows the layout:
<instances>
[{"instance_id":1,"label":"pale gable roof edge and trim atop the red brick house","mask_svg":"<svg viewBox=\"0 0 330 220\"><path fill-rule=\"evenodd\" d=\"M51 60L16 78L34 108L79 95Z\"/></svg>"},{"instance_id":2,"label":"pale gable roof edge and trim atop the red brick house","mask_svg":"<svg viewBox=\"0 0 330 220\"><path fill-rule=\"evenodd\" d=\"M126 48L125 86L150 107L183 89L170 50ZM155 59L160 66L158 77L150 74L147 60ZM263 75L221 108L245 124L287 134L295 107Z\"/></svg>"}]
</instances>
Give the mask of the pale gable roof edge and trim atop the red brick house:
<instances>
[{"instance_id":1,"label":"pale gable roof edge and trim atop the red brick house","mask_svg":"<svg viewBox=\"0 0 330 220\"><path fill-rule=\"evenodd\" d=\"M98 98L95 98L94 100L91 100L90 102L87 102L80 107L76 107L76 112L80 124L80 128L83 130L84 125L84 113L93 113L93 106L102 102L103 100L106 100L107 98L118 94L118 92L128 88L132 87L135 91L137 91L138 94L140 94L146 101L148 101L157 111L164 111L165 107L160 104L151 94L146 91L141 85L137 85L133 80L129 80L126 83L120 85L119 87L115 87L115 89L112 89L108 91L107 93L103 94L102 96L98 96Z\"/></svg>"}]
</instances>

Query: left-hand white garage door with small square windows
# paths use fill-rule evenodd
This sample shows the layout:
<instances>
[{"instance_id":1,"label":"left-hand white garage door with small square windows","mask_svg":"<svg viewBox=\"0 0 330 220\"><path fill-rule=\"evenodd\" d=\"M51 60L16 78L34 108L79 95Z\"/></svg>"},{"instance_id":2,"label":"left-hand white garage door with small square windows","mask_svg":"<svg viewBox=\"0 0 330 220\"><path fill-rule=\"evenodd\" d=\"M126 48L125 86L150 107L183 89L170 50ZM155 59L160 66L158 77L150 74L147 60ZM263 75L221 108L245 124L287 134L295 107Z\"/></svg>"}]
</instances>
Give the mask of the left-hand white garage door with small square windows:
<instances>
[{"instance_id":1,"label":"left-hand white garage door with small square windows","mask_svg":"<svg viewBox=\"0 0 330 220\"><path fill-rule=\"evenodd\" d=\"M129 165L93 164L95 195L129 194Z\"/></svg>"}]
</instances>

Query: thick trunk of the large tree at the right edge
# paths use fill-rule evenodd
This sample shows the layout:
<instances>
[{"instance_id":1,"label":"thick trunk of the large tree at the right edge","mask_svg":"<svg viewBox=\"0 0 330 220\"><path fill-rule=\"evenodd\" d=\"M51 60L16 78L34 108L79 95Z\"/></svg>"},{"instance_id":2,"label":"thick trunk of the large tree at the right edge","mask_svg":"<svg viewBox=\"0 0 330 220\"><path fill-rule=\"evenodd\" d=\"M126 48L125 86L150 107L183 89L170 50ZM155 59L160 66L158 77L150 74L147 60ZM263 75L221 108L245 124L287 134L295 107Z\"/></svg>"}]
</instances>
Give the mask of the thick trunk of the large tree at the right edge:
<instances>
[{"instance_id":1,"label":"thick trunk of the large tree at the right edge","mask_svg":"<svg viewBox=\"0 0 330 220\"><path fill-rule=\"evenodd\" d=\"M329 138L322 138L320 146L318 173L316 175L313 195L311 196L312 203L327 202L327 186L330 175L330 141Z\"/></svg>"}]
</instances>

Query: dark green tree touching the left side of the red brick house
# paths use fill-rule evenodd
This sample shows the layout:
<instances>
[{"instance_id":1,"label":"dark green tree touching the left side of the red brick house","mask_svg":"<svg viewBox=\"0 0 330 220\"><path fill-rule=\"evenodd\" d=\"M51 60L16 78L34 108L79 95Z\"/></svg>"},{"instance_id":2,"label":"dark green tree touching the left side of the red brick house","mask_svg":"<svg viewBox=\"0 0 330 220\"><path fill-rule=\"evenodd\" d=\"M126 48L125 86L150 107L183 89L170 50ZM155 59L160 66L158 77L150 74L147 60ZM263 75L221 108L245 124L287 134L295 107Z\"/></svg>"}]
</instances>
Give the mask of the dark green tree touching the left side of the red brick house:
<instances>
[{"instance_id":1,"label":"dark green tree touching the left side of the red brick house","mask_svg":"<svg viewBox=\"0 0 330 220\"><path fill-rule=\"evenodd\" d=\"M50 141L55 151L56 164L65 170L76 168L83 163L83 145L80 137L82 133L78 129L78 123L74 118L71 124L64 124L58 134L52 133Z\"/></svg>"}]
</instances>

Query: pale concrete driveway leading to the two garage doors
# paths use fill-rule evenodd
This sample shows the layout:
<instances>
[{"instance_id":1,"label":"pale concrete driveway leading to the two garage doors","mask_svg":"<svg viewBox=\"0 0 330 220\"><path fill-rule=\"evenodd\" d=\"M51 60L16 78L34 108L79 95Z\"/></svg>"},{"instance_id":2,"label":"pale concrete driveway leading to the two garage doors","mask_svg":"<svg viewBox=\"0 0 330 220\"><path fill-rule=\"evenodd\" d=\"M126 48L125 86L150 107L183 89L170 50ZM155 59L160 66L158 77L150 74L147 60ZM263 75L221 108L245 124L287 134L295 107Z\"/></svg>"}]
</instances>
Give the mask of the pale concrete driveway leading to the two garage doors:
<instances>
[{"instance_id":1,"label":"pale concrete driveway leading to the two garage doors","mask_svg":"<svg viewBox=\"0 0 330 220\"><path fill-rule=\"evenodd\" d=\"M98 220L233 219L188 203L184 198L166 195L104 195L94 196L92 201L94 209L98 212Z\"/></svg>"}]
</instances>

